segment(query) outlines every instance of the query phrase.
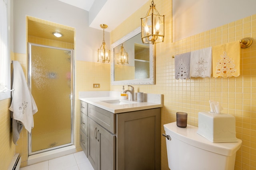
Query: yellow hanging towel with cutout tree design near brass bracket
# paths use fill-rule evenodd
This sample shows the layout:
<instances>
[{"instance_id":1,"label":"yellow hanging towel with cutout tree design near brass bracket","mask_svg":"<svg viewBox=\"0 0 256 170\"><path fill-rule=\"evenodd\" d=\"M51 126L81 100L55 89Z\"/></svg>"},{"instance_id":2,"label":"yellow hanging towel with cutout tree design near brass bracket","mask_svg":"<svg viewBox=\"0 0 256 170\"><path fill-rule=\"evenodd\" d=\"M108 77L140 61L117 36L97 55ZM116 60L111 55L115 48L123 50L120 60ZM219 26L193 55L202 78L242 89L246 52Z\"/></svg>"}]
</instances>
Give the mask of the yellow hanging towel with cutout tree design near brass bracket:
<instances>
[{"instance_id":1,"label":"yellow hanging towel with cutout tree design near brass bracket","mask_svg":"<svg viewBox=\"0 0 256 170\"><path fill-rule=\"evenodd\" d=\"M240 42L212 47L213 77L238 77L240 75Z\"/></svg>"}]
</instances>

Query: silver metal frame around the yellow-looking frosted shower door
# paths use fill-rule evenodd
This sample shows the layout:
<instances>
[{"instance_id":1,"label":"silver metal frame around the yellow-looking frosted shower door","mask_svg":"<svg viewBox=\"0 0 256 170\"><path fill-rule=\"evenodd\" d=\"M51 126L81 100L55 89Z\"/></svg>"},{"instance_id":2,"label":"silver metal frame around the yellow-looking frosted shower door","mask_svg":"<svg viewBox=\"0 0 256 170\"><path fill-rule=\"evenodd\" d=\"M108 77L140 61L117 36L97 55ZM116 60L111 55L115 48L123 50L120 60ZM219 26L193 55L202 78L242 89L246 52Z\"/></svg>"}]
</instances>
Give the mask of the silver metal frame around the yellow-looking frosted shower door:
<instances>
[{"instance_id":1,"label":"silver metal frame around the yellow-looking frosted shower door","mask_svg":"<svg viewBox=\"0 0 256 170\"><path fill-rule=\"evenodd\" d=\"M39 150L36 152L32 152L32 132L28 134L28 156L33 154L38 154L42 152L46 152L49 150L54 150L58 148L63 148L65 146L74 145L74 49L67 49L67 48L59 48L59 47L52 47L48 45L41 45L36 43L28 43L28 87L31 92L31 46L38 46L38 47L46 47L46 48L53 48L53 49L60 49L65 51L70 51L70 71L71 71L71 88L70 88L70 101L71 101L71 142L68 144L63 144L60 146L55 146L52 148L47 148L43 150Z\"/></svg>"}]
</instances>

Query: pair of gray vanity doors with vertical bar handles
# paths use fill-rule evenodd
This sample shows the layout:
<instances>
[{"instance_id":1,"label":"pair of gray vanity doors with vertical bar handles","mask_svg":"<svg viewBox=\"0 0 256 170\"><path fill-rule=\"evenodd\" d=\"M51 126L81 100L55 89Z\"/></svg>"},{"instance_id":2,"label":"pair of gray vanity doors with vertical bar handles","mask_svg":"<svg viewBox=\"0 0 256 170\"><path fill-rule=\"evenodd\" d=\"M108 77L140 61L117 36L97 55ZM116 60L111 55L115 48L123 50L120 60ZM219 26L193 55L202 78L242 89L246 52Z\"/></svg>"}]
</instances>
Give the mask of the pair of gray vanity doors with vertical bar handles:
<instances>
[{"instance_id":1,"label":"pair of gray vanity doors with vertical bar handles","mask_svg":"<svg viewBox=\"0 0 256 170\"><path fill-rule=\"evenodd\" d=\"M116 136L88 118L88 159L94 170L115 170Z\"/></svg>"}]
</instances>

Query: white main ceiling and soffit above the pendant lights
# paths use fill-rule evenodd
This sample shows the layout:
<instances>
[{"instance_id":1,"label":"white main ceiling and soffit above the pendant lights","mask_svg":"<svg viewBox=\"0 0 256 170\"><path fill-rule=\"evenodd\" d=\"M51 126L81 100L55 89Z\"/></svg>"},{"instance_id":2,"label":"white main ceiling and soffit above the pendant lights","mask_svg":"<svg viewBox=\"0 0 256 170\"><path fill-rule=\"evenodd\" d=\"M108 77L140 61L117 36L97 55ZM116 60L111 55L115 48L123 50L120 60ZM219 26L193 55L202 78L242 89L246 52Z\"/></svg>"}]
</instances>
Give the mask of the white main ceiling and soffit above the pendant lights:
<instances>
[{"instance_id":1,"label":"white main ceiling and soffit above the pendant lights","mask_svg":"<svg viewBox=\"0 0 256 170\"><path fill-rule=\"evenodd\" d=\"M111 32L148 0L59 0L89 12L89 26L102 30L100 24L107 24ZM150 3L148 4L150 6ZM146 12L145 12L146 14ZM143 16L138 16L142 18Z\"/></svg>"}]
</instances>

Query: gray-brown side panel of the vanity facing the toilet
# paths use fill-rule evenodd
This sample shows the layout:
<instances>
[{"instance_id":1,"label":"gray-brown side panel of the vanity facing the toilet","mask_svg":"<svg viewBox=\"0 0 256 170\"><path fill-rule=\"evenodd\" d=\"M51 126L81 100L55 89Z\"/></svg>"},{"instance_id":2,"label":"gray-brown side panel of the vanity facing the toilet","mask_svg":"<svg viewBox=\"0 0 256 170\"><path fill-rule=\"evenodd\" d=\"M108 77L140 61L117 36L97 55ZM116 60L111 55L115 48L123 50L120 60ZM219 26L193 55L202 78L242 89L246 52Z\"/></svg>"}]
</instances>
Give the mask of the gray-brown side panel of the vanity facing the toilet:
<instances>
[{"instance_id":1,"label":"gray-brown side panel of the vanity facing the toilet","mask_svg":"<svg viewBox=\"0 0 256 170\"><path fill-rule=\"evenodd\" d=\"M117 170L160 170L161 109L117 114Z\"/></svg>"}]
</instances>

